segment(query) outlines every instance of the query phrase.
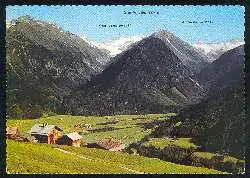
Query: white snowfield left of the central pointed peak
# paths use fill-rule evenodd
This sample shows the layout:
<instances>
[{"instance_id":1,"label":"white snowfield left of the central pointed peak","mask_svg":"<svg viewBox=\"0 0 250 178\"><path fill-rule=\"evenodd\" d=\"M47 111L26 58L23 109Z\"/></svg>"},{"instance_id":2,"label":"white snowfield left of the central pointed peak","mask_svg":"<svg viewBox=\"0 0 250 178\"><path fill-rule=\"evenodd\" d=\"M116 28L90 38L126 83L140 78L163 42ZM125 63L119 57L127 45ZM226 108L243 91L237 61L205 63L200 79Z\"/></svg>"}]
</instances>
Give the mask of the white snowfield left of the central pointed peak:
<instances>
[{"instance_id":1,"label":"white snowfield left of the central pointed peak","mask_svg":"<svg viewBox=\"0 0 250 178\"><path fill-rule=\"evenodd\" d=\"M116 40L108 40L104 42L96 42L93 40L89 40L85 37L83 39L87 41L89 44L96 46L100 49L105 49L108 51L110 56L115 56L117 54L120 54L121 52L127 50L132 44L140 41L142 36L131 36L127 38L120 38Z\"/></svg>"}]
</instances>

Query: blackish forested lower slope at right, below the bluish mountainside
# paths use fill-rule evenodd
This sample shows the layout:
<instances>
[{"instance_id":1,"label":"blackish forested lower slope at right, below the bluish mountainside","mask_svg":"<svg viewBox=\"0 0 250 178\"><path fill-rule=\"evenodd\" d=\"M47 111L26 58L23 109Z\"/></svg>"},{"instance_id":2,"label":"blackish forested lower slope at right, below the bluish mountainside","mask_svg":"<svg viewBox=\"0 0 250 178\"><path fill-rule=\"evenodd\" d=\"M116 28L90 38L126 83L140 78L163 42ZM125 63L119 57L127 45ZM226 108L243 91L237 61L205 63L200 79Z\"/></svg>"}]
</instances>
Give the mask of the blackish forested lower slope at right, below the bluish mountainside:
<instances>
[{"instance_id":1,"label":"blackish forested lower slope at right, below the bluish mountainside","mask_svg":"<svg viewBox=\"0 0 250 178\"><path fill-rule=\"evenodd\" d=\"M218 151L244 159L244 93L244 85L239 84L211 94L179 114L184 121L173 135L196 137L204 151Z\"/></svg>"}]
</instances>

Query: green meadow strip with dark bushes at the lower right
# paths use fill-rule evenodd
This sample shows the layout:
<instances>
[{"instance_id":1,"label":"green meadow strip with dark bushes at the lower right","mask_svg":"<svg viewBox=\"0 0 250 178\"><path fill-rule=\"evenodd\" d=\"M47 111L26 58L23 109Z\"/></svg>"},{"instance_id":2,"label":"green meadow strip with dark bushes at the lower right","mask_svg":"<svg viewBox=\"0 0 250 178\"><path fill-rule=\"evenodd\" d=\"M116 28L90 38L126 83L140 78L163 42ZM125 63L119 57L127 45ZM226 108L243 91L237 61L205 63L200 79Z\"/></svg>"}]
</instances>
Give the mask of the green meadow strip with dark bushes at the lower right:
<instances>
[{"instance_id":1,"label":"green meadow strip with dark bushes at the lower right","mask_svg":"<svg viewBox=\"0 0 250 178\"><path fill-rule=\"evenodd\" d=\"M245 167L244 160L229 155L219 158L215 153L201 151L191 138L150 138L135 149L146 157L235 174L242 173Z\"/></svg>"}]
</instances>

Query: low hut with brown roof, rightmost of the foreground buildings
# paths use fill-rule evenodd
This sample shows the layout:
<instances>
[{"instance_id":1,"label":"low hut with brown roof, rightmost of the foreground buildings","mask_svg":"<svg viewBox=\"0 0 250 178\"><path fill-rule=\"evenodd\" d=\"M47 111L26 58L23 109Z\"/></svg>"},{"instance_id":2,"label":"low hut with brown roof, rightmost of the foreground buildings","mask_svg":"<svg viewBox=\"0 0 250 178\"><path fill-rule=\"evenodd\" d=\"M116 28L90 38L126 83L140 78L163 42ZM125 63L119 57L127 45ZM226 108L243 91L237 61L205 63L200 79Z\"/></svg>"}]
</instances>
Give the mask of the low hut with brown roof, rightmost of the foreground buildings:
<instances>
[{"instance_id":1,"label":"low hut with brown roof, rightmost of the foreground buildings","mask_svg":"<svg viewBox=\"0 0 250 178\"><path fill-rule=\"evenodd\" d=\"M103 139L97 143L100 148L109 150L109 151L122 151L125 149L125 144L120 140L115 139Z\"/></svg>"}]
</instances>

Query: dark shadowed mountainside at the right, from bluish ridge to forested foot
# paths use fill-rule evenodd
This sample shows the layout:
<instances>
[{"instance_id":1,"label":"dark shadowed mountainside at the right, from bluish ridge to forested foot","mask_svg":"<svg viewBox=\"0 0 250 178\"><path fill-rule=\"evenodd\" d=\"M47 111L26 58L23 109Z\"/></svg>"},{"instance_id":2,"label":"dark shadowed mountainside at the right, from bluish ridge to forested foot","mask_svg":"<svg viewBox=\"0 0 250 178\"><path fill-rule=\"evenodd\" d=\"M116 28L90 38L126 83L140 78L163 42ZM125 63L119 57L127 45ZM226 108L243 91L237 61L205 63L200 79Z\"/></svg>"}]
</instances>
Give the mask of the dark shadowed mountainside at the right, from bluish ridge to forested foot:
<instances>
[{"instance_id":1,"label":"dark shadowed mountainside at the right, from bluish ridge to forested foot","mask_svg":"<svg viewBox=\"0 0 250 178\"><path fill-rule=\"evenodd\" d=\"M201 71L202 82L209 84L207 96L179 113L182 124L172 135L192 137L204 151L244 158L244 61L242 45L225 52ZM159 130L165 129L162 126Z\"/></svg>"}]
</instances>

